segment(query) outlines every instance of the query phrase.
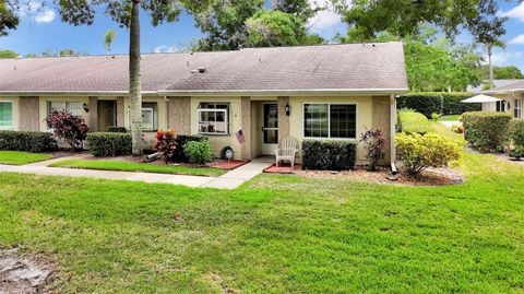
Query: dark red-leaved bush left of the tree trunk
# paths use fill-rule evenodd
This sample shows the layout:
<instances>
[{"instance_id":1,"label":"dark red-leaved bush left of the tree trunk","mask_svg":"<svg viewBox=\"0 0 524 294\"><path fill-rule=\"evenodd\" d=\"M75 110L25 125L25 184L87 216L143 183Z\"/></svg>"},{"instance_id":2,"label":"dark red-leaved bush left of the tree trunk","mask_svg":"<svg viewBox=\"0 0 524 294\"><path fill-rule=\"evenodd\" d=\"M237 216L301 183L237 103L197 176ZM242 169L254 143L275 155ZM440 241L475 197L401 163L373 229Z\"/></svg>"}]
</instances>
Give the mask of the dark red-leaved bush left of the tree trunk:
<instances>
[{"instance_id":1,"label":"dark red-leaved bush left of the tree trunk","mask_svg":"<svg viewBox=\"0 0 524 294\"><path fill-rule=\"evenodd\" d=\"M55 137L68 142L75 151L84 149L90 128L82 117L73 116L68 110L53 111L46 122L52 128Z\"/></svg>"}]
</instances>

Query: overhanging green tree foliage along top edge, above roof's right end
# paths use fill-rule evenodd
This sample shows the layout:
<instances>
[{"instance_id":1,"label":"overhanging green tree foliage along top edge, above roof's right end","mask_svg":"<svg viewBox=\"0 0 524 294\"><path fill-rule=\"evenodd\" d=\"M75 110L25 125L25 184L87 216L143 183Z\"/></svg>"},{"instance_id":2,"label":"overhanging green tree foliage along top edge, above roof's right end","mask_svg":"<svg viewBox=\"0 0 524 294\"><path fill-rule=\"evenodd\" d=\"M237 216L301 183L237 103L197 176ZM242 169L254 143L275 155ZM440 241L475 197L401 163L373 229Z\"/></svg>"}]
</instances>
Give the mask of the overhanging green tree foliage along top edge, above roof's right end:
<instances>
[{"instance_id":1,"label":"overhanging green tree foliage along top edge, above roof's right end","mask_svg":"<svg viewBox=\"0 0 524 294\"><path fill-rule=\"evenodd\" d=\"M354 37L373 38L382 32L406 37L420 24L441 28L453 38L462 28L475 36L476 21L497 14L497 0L333 0Z\"/></svg>"}]
</instances>

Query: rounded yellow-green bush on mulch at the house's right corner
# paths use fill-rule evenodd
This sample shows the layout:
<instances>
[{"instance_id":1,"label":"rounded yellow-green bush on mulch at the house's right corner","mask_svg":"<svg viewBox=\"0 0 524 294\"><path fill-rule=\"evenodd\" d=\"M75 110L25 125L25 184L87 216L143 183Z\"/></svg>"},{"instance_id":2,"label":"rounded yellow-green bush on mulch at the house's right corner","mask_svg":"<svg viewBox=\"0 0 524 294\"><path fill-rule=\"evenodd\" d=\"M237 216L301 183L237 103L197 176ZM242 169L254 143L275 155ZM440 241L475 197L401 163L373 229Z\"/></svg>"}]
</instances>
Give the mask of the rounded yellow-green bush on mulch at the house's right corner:
<instances>
[{"instance_id":1,"label":"rounded yellow-green bush on mulch at the house's right corner","mask_svg":"<svg viewBox=\"0 0 524 294\"><path fill-rule=\"evenodd\" d=\"M412 176L418 176L428 167L448 166L462 155L460 143L436 133L397 133L395 140L403 167Z\"/></svg>"}]
</instances>

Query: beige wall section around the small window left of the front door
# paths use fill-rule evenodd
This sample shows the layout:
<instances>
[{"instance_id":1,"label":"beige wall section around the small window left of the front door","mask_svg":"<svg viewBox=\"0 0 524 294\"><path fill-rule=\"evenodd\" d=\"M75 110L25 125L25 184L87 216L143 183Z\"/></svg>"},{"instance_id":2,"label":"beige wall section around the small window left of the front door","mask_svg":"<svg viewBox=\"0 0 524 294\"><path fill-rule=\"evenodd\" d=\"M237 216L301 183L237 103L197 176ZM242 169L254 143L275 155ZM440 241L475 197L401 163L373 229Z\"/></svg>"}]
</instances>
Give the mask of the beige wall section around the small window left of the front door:
<instances>
[{"instance_id":1,"label":"beige wall section around the small window left of the front door","mask_svg":"<svg viewBox=\"0 0 524 294\"><path fill-rule=\"evenodd\" d=\"M200 103L229 103L229 134L205 134L213 145L216 156L224 146L230 146L235 158L241 158L241 145L235 137L235 132L242 129L241 102L240 97L192 97L191 98L191 134L199 134L198 108ZM246 130L242 130L246 131Z\"/></svg>"}]
</instances>

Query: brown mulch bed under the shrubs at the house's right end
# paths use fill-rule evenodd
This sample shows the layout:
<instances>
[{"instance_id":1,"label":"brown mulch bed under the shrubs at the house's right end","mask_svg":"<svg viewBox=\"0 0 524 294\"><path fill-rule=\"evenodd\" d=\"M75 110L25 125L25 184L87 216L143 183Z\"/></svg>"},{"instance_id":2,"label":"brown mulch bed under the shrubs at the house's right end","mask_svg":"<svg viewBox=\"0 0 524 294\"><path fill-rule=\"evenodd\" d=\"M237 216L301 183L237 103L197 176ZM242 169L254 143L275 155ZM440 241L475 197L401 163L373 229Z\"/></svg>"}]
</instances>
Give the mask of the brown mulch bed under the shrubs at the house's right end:
<instances>
[{"instance_id":1,"label":"brown mulch bed under the shrubs at the house's right end","mask_svg":"<svg viewBox=\"0 0 524 294\"><path fill-rule=\"evenodd\" d=\"M445 186L465 181L463 175L452 168L428 168L421 173L419 178L401 173L394 176L396 180L389 179L392 175L388 168L380 168L377 172L368 172L365 167L356 167L356 169L347 172L297 170L296 174L311 178L353 179L398 186Z\"/></svg>"}]
</instances>

